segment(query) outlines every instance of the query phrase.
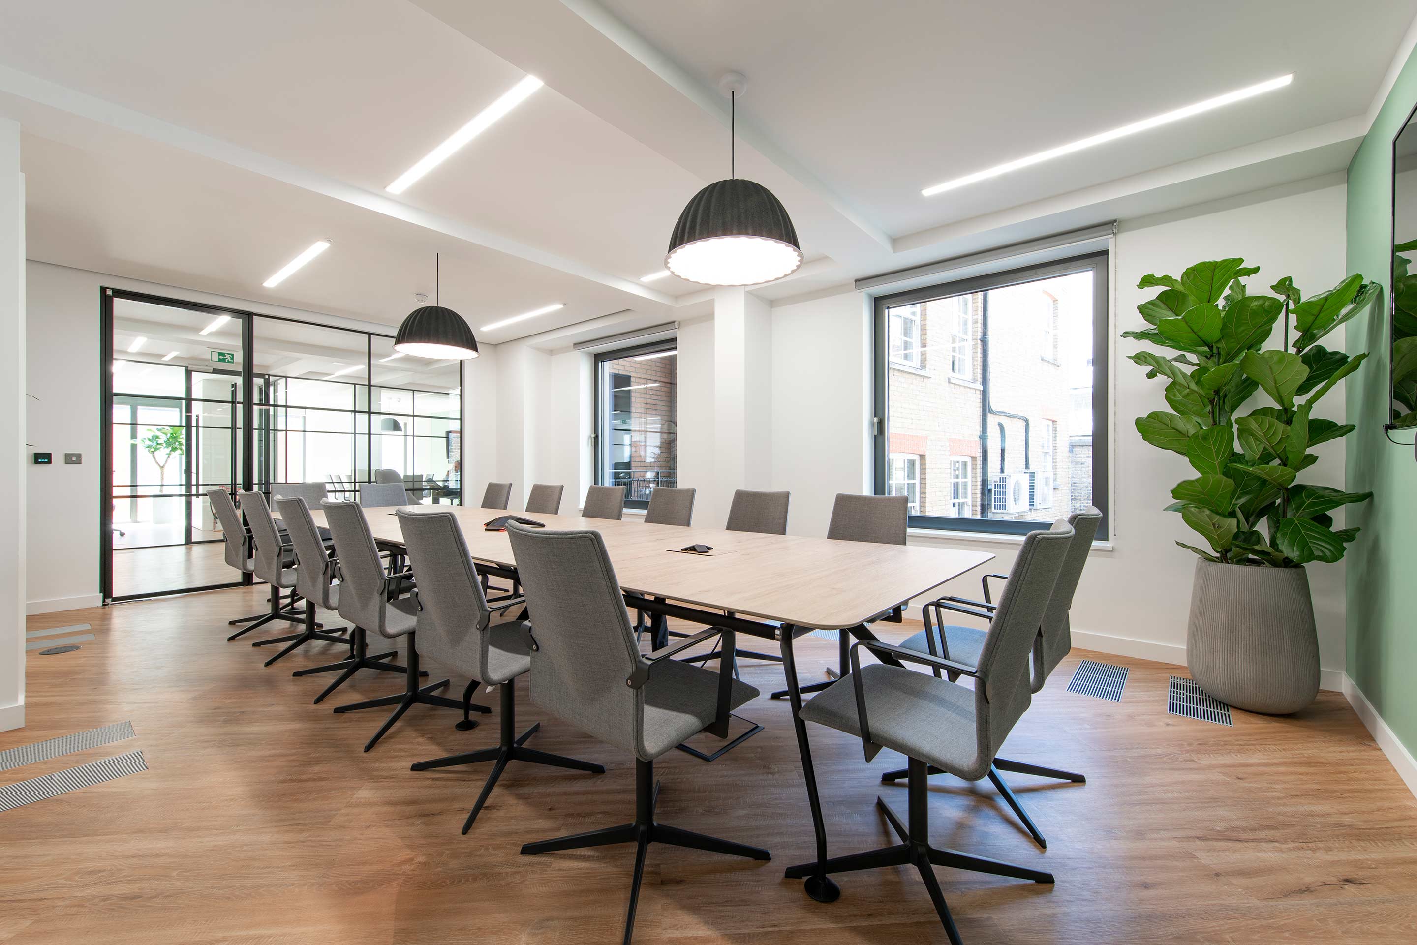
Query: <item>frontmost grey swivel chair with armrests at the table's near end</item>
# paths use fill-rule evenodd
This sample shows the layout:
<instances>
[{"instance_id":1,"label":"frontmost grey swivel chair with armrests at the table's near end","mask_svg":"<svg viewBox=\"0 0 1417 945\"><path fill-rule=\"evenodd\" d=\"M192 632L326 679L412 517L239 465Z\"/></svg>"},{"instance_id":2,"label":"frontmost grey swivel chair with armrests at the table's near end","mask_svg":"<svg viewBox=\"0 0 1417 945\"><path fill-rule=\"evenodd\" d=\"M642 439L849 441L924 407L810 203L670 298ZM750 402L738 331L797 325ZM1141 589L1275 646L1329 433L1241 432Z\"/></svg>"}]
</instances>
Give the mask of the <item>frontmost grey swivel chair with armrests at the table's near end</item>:
<instances>
[{"instance_id":1,"label":"frontmost grey swivel chair with armrests at the table's near end","mask_svg":"<svg viewBox=\"0 0 1417 945\"><path fill-rule=\"evenodd\" d=\"M932 867L948 866L1034 883L1053 881L1051 873L930 846L930 786L925 772L934 765L966 781L978 781L989 774L995 752L1033 698L1029 686L1029 650L1033 649L1039 623L1071 541L1073 528L1063 520L1049 531L1034 531L1023 540L978 666L965 666L881 640L860 640L850 647L850 674L806 703L801 715L806 721L857 735L866 761L871 761L881 748L907 755L910 819L903 823L877 798L876 805L901 840L897 846L802 863L786 870L788 878L806 878L816 893L825 894L826 901L830 901L835 891L835 883L829 878L832 873L914 866L930 891L945 934L956 945L959 931ZM862 666L863 646L879 657L891 656L920 663L937 673L972 676L973 689L904 666Z\"/></svg>"}]
</instances>

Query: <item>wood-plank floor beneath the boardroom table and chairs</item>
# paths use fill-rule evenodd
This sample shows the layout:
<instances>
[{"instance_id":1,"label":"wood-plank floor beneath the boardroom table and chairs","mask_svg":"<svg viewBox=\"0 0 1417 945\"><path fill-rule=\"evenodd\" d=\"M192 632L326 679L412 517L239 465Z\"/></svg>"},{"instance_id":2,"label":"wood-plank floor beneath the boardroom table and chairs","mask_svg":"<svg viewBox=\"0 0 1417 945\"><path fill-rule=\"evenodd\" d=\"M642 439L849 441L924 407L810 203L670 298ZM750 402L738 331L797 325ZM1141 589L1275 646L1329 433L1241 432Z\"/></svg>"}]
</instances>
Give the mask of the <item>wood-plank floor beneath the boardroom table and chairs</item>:
<instances>
[{"instance_id":1,"label":"wood-plank floor beneath the boardroom table and chairs","mask_svg":"<svg viewBox=\"0 0 1417 945\"><path fill-rule=\"evenodd\" d=\"M259 591L235 589L30 618L31 629L89 622L98 639L30 655L28 727L0 734L0 749L125 720L137 737L0 772L0 783L133 749L149 769L0 813L0 942L619 941L632 849L517 850L632 819L629 757L523 698L519 727L543 721L531 745L608 771L513 765L462 836L486 766L408 765L495 744L496 715L458 732L453 714L418 707L363 754L384 710L333 715L310 704L329 677L290 677L337 659L339 646L262 669L269 649L225 642L225 619L258 609ZM887 625L886 636L911 630ZM820 679L835 653L835 639L803 640L803 679ZM1049 887L939 870L966 942L1417 941L1417 802L1340 694L1291 718L1236 713L1226 728L1168 715L1168 674L1185 670L1161 663L1101 657L1131 667L1119 704L1068 693L1080 656L1007 745L1009 757L1088 775L1087 785L1007 775L1046 853L988 782L932 788L937 846L1057 876ZM332 701L398 687L368 676ZM744 677L764 690L782 679L764 663ZM913 871L845 876L830 905L782 878L812 850L788 710L764 697L741 711L767 731L711 765L662 759L659 817L774 859L650 847L636 941L944 942ZM904 809L904 788L877 783L898 755L866 765L859 741L811 735L830 851L893 843L873 802L881 793Z\"/></svg>"}]
</instances>

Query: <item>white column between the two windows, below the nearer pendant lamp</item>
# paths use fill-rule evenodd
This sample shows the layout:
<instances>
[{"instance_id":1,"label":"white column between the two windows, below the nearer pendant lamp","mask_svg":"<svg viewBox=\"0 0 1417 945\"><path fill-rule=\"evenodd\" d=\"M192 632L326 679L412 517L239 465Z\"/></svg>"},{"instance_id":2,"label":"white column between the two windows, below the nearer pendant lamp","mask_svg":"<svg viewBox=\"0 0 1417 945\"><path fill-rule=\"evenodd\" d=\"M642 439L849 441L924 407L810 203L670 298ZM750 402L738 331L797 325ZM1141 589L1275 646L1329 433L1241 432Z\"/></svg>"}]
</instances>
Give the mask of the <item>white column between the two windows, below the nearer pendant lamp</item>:
<instances>
[{"instance_id":1,"label":"white column between the two windows, below the nearer pendant lamp","mask_svg":"<svg viewBox=\"0 0 1417 945\"><path fill-rule=\"evenodd\" d=\"M745 289L714 293L714 475L697 496L696 524L721 527L735 489L771 487L771 319L772 307Z\"/></svg>"}]
</instances>

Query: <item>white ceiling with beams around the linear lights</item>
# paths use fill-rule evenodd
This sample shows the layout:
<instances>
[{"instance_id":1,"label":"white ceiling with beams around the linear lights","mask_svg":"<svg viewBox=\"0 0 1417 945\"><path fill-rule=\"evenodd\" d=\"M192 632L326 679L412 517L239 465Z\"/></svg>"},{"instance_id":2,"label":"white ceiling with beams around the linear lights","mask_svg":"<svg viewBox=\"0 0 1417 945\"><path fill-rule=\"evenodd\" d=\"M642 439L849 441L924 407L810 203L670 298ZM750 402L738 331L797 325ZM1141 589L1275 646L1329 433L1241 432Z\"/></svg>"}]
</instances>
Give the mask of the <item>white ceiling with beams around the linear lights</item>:
<instances>
[{"instance_id":1,"label":"white ceiling with beams around the linear lights","mask_svg":"<svg viewBox=\"0 0 1417 945\"><path fill-rule=\"evenodd\" d=\"M500 343L666 320L679 210L740 174L809 259L768 298L1342 169L1410 0L26 0L0 115L26 130L37 259L397 323L415 290ZM1355 54L1353 50L1362 50ZM1282 91L935 198L920 188L1284 72ZM523 75L547 82L391 198ZM126 112L125 109L132 109ZM205 136L205 137L204 137ZM261 282L313 239L333 248Z\"/></svg>"}]
</instances>

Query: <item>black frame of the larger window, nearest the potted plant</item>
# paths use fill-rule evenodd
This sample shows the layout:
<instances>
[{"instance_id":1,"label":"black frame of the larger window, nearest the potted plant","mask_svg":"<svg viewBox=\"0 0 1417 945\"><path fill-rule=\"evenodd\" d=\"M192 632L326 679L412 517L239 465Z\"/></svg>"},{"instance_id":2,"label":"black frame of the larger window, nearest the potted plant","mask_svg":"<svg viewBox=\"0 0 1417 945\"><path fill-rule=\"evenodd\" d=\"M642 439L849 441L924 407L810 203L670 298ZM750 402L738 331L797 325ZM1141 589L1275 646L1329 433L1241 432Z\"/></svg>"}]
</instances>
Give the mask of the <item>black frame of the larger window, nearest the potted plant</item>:
<instances>
[{"instance_id":1,"label":"black frame of the larger window, nearest the potted plant","mask_svg":"<svg viewBox=\"0 0 1417 945\"><path fill-rule=\"evenodd\" d=\"M1108 540L1111 534L1111 519L1108 510L1108 466L1111 456L1111 421L1108 415L1110 407L1110 370L1108 370L1108 351L1111 341L1111 303L1108 298L1108 275L1110 275L1111 251L1100 249L1093 252L1080 254L1076 256L1068 256L1066 259L1056 259L1050 262L1030 264L1026 266L1017 266L1013 269L1005 269L1002 272L993 272L982 276L971 276L965 279L954 279L945 282L935 282L928 286L918 289L910 289L905 292L896 292L891 295L879 295L874 298L874 324L873 324L873 412L874 412L874 434L873 434L873 470L874 470L874 492L877 496L887 494L890 489L890 316L887 309L897 305L911 305L917 302L928 302L931 299L939 299L945 296L988 292L992 289L1003 289L1007 286L1023 285L1027 282L1039 282L1043 279L1053 279L1061 275L1071 275L1077 272L1091 272L1093 273L1093 504L1097 506L1102 513L1102 521L1098 526L1097 541ZM989 339L988 332L981 332L981 367L979 377L983 384L983 398L985 404L989 402L989 380L988 371L985 370L989 360ZM995 417L993 412L989 414L990 422ZM992 439L992 436L990 436ZM1054 445L1054 451L1057 445ZM975 465L981 469L988 469L988 463L983 462L985 456L975 458ZM1054 469L1057 465L1057 456L1054 455ZM982 482L988 482L988 473L982 475ZM978 519L961 519L954 516L910 516L908 524L911 528L932 528L938 531L972 531L981 534L1027 534L1036 531L1040 527L1047 527L1046 520L1026 520L1013 521L1002 519L988 517L988 504L981 500L981 517Z\"/></svg>"}]
</instances>

